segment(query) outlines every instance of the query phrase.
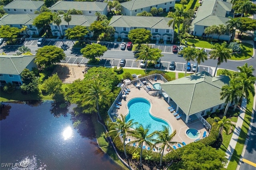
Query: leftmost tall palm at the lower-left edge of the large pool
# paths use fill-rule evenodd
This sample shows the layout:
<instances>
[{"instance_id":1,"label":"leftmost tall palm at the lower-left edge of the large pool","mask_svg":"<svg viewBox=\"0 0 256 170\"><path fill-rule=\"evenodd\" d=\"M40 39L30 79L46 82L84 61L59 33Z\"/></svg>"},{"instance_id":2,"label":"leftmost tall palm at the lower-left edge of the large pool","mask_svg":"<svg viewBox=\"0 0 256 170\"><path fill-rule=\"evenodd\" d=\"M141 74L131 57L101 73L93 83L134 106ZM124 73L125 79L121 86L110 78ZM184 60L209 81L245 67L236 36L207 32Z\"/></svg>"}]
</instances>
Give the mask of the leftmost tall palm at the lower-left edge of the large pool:
<instances>
[{"instance_id":1,"label":"leftmost tall palm at the lower-left edge of the large pool","mask_svg":"<svg viewBox=\"0 0 256 170\"><path fill-rule=\"evenodd\" d=\"M125 116L121 115L121 119L116 119L116 122L111 122L110 125L110 131L108 132L108 136L110 134L116 134L114 140L116 139L116 137L119 137L120 135L122 135L122 142L123 142L123 146L124 146L124 154L128 160L128 156L126 154L126 136L130 133L132 133L132 127L134 125L138 124L137 122L133 123L133 120L129 120L128 122L126 122L125 120Z\"/></svg>"}]
</instances>

